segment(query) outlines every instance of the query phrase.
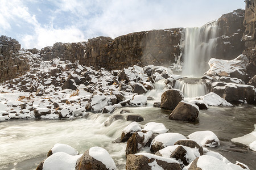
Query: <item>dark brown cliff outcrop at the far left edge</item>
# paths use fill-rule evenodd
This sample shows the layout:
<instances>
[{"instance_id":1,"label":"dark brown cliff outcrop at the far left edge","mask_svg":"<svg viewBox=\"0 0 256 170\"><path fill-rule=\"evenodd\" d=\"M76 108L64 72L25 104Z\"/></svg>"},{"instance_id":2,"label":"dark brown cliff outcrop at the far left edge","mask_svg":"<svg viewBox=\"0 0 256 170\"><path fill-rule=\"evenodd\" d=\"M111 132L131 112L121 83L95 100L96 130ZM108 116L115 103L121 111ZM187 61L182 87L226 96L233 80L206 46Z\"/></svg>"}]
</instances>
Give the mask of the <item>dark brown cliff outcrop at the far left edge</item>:
<instances>
[{"instance_id":1,"label":"dark brown cliff outcrop at the far left edge","mask_svg":"<svg viewBox=\"0 0 256 170\"><path fill-rule=\"evenodd\" d=\"M0 37L0 82L13 79L30 69L27 57L19 50L17 40L7 36Z\"/></svg>"}]
</instances>

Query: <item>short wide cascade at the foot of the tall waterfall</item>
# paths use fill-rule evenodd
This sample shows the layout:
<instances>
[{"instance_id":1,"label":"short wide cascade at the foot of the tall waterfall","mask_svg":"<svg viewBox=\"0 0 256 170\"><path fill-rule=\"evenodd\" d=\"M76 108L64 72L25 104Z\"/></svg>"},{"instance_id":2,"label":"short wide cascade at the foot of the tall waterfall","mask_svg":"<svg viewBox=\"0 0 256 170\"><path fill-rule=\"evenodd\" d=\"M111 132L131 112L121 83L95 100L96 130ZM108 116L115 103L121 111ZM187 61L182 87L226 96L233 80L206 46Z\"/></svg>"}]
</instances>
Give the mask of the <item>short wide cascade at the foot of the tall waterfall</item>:
<instances>
[{"instance_id":1,"label":"short wide cascade at the foot of the tall waterfall","mask_svg":"<svg viewBox=\"0 0 256 170\"><path fill-rule=\"evenodd\" d=\"M183 78L177 80L174 88L183 92L184 97L204 96L208 93L207 86L204 82L200 82L199 78Z\"/></svg>"}]
</instances>

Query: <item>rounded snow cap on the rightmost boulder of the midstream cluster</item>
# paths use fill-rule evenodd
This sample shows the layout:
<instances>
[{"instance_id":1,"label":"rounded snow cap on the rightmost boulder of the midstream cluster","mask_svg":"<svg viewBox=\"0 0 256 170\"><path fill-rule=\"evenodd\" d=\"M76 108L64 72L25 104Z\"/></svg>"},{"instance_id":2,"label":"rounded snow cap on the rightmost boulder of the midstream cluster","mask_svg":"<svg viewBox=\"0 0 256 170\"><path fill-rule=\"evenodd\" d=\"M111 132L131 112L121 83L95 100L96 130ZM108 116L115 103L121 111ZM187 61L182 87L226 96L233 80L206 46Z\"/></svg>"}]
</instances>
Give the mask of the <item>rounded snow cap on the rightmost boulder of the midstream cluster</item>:
<instances>
[{"instance_id":1,"label":"rounded snow cap on the rightmost boulder of the midstream cluster","mask_svg":"<svg viewBox=\"0 0 256 170\"><path fill-rule=\"evenodd\" d=\"M188 138L192 139L193 141L196 141L197 143L200 143L200 145L203 145L203 146L209 146L209 147L220 146L220 140L218 139L217 135L209 130L195 131L194 133L189 134ZM212 140L214 140L215 142L205 144L207 141L212 141Z\"/></svg>"}]
</instances>

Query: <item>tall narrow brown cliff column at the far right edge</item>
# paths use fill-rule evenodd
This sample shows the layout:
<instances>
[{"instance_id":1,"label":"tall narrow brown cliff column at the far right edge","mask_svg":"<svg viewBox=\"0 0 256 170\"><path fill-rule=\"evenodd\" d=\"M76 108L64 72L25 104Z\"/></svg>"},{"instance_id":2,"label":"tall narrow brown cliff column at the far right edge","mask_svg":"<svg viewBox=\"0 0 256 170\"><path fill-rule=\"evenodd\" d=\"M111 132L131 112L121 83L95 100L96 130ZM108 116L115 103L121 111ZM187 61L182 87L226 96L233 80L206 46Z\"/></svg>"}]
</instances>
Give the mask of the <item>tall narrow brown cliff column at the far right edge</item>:
<instances>
[{"instance_id":1,"label":"tall narrow brown cliff column at the far right edge","mask_svg":"<svg viewBox=\"0 0 256 170\"><path fill-rule=\"evenodd\" d=\"M243 25L246 29L243 33L243 40L245 41L245 54L249 58L249 65L247 66L247 73L250 76L256 75L256 18L255 18L255 5L256 0L246 0L245 7L245 20Z\"/></svg>"}]
</instances>

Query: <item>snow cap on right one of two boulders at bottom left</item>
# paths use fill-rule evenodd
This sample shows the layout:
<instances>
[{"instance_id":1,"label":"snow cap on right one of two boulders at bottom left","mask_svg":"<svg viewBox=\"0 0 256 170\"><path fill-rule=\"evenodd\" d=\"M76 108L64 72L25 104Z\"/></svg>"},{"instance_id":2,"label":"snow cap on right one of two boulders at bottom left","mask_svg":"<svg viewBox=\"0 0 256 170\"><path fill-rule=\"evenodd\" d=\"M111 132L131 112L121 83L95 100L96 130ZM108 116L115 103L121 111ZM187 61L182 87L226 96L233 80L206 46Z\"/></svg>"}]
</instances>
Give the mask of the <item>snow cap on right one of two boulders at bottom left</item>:
<instances>
[{"instance_id":1,"label":"snow cap on right one of two boulders at bottom left","mask_svg":"<svg viewBox=\"0 0 256 170\"><path fill-rule=\"evenodd\" d=\"M104 165L106 165L106 168L108 169L117 169L115 166L114 160L109 155L109 152L106 151L104 148L101 147L91 147L89 149L89 155L92 156L92 158L102 162Z\"/></svg>"}]
</instances>

